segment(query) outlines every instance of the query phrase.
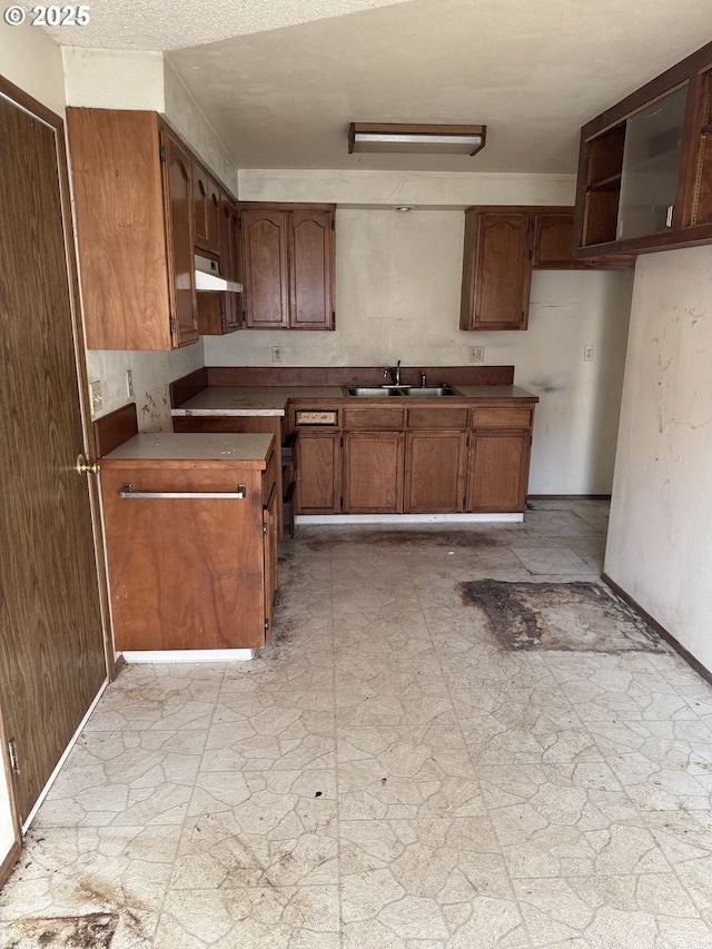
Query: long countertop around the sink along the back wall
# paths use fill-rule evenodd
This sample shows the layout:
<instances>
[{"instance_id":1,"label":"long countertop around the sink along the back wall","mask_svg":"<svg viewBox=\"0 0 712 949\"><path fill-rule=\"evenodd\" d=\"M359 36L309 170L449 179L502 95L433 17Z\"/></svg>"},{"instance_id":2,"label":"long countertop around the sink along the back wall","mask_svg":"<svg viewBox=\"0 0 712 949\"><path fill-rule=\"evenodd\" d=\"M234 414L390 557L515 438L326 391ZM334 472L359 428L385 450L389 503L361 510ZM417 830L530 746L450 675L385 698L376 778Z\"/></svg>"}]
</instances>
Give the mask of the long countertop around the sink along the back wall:
<instances>
[{"instance_id":1,"label":"long countertop around the sink along the back wall","mask_svg":"<svg viewBox=\"0 0 712 949\"><path fill-rule=\"evenodd\" d=\"M518 386L456 386L456 388L462 393L462 397L434 396L432 401L427 399L428 404L431 402L438 405L462 403L463 398L472 402L491 399L538 402L538 396ZM319 401L343 399L349 404L367 402L357 396L345 396L342 386L209 386L174 408L171 414L176 416L284 415L289 399L314 399L316 408ZM422 405L424 401L426 399L418 398L417 402L412 399L412 404ZM406 403L408 403L407 396L402 401L402 404ZM389 405L393 406L393 403Z\"/></svg>"}]
</instances>

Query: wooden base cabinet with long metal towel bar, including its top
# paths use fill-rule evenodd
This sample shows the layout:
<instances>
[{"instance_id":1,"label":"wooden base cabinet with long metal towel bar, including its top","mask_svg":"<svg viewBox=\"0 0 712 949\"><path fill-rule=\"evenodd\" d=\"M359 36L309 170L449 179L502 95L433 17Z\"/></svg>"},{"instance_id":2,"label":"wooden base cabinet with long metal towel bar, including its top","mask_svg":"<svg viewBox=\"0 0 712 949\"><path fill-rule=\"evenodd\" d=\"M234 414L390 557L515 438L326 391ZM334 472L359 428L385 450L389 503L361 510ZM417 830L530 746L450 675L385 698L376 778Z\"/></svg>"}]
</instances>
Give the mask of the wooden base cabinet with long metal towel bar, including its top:
<instances>
[{"instance_id":1,"label":"wooden base cabinet with long metal towel bar, including its top","mask_svg":"<svg viewBox=\"0 0 712 949\"><path fill-rule=\"evenodd\" d=\"M137 435L100 461L118 652L245 650L271 633L270 435Z\"/></svg>"}]
</instances>

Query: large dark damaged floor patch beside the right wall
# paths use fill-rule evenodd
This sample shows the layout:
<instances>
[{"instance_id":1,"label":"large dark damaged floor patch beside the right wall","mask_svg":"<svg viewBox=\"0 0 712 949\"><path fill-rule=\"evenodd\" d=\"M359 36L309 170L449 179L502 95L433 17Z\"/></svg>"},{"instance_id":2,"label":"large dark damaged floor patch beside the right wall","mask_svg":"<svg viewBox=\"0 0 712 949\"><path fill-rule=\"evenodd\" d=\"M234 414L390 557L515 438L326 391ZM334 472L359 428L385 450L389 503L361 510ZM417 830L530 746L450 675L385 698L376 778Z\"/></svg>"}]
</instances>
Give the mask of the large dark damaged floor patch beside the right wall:
<instances>
[{"instance_id":1,"label":"large dark damaged floor patch beside the right wall","mask_svg":"<svg viewBox=\"0 0 712 949\"><path fill-rule=\"evenodd\" d=\"M459 584L463 602L477 606L507 650L670 652L622 601L596 583Z\"/></svg>"}]
</instances>

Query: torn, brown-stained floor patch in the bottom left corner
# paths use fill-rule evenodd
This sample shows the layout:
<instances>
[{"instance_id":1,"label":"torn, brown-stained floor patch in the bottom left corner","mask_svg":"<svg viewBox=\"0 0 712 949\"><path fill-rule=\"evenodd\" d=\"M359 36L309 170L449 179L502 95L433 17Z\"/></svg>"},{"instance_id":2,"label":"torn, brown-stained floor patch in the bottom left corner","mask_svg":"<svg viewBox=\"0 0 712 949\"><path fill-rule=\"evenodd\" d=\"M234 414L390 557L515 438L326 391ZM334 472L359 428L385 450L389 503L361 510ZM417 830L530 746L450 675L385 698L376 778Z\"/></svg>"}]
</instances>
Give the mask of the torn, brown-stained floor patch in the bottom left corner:
<instances>
[{"instance_id":1,"label":"torn, brown-stained floor patch in the bottom left corner","mask_svg":"<svg viewBox=\"0 0 712 949\"><path fill-rule=\"evenodd\" d=\"M2 945L4 949L109 949L118 925L118 913L109 912L18 919L10 923Z\"/></svg>"}]
</instances>

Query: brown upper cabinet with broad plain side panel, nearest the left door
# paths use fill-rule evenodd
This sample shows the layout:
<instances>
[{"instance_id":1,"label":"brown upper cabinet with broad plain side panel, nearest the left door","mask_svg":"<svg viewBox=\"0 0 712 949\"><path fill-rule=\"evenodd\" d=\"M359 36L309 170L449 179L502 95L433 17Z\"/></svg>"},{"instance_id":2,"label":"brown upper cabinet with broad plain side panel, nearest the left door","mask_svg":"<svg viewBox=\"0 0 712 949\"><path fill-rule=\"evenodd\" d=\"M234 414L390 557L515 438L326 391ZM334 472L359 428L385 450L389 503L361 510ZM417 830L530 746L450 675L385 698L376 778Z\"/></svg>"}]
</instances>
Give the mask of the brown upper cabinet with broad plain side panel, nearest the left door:
<instances>
[{"instance_id":1,"label":"brown upper cabinet with broad plain side panel, nearest the left door","mask_svg":"<svg viewBox=\"0 0 712 949\"><path fill-rule=\"evenodd\" d=\"M156 112L69 108L67 129L87 346L195 343L195 156Z\"/></svg>"}]
</instances>

